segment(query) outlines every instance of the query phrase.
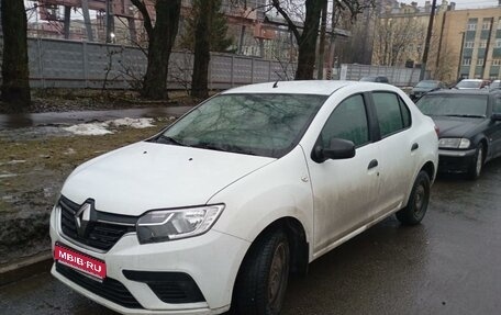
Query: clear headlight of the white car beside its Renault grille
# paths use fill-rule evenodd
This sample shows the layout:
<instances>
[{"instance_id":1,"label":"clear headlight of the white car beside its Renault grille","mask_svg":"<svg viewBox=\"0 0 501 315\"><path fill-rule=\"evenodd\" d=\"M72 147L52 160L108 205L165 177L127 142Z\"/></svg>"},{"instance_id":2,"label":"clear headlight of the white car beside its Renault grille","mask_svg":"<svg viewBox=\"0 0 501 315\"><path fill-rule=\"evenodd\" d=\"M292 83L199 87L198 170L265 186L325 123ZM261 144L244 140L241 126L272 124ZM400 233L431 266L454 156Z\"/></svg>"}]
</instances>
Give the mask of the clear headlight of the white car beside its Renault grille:
<instances>
[{"instance_id":1,"label":"clear headlight of the white car beside its Renault grille","mask_svg":"<svg viewBox=\"0 0 501 315\"><path fill-rule=\"evenodd\" d=\"M197 236L208 232L224 210L224 204L198 207L155 210L137 221L141 244Z\"/></svg>"}]
</instances>

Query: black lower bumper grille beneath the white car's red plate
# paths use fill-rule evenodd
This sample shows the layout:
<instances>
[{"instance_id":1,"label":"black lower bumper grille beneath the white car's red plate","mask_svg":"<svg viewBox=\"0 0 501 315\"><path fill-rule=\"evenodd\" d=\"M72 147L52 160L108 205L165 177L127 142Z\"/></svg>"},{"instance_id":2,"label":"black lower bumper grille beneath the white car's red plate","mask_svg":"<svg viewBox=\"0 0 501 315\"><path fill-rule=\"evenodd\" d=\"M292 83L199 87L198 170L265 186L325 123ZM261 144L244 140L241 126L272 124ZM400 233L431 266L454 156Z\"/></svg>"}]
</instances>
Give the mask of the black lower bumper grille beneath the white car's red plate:
<instances>
[{"instance_id":1,"label":"black lower bumper grille beneath the white car's red plate","mask_svg":"<svg viewBox=\"0 0 501 315\"><path fill-rule=\"evenodd\" d=\"M98 282L58 262L56 262L56 270L81 288L123 307L144 308L121 282L112 278L105 278L102 282Z\"/></svg>"}]
</instances>

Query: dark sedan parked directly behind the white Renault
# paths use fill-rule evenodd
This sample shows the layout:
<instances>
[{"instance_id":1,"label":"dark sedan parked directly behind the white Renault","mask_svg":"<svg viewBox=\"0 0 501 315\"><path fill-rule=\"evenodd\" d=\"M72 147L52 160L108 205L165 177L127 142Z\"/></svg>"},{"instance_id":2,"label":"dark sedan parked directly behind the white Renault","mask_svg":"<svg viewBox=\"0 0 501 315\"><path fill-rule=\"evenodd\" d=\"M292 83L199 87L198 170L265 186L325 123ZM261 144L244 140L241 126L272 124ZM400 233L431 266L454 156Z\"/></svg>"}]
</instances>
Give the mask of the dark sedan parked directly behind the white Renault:
<instances>
[{"instance_id":1,"label":"dark sedan parked directly behind the white Renault","mask_svg":"<svg viewBox=\"0 0 501 315\"><path fill-rule=\"evenodd\" d=\"M438 171L476 179L487 161L501 155L501 91L436 91L417 106L439 128Z\"/></svg>"}]
</instances>

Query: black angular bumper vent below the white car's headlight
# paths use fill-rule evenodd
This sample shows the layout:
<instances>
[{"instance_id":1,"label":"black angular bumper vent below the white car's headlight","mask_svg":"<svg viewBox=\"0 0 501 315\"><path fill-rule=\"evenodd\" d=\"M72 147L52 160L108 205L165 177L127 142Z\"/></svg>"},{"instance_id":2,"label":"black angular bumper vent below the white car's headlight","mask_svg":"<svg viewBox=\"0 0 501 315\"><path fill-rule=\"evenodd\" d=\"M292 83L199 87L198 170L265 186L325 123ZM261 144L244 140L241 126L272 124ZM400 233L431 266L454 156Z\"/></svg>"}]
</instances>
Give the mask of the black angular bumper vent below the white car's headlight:
<instances>
[{"instance_id":1,"label":"black angular bumper vent below the white car's headlight","mask_svg":"<svg viewBox=\"0 0 501 315\"><path fill-rule=\"evenodd\" d=\"M193 278L183 272L123 270L126 279L146 283L163 302L170 304L204 302Z\"/></svg>"}]
</instances>

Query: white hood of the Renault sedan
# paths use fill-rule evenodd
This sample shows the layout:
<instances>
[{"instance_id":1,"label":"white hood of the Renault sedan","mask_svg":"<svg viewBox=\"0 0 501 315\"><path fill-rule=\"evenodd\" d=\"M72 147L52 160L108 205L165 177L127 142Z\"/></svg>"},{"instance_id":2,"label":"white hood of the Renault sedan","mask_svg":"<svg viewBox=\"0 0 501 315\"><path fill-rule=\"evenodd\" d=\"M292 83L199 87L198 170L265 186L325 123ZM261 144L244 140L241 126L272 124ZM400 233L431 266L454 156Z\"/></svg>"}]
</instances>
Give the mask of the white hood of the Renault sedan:
<instances>
[{"instance_id":1,"label":"white hood of the Renault sedan","mask_svg":"<svg viewBox=\"0 0 501 315\"><path fill-rule=\"evenodd\" d=\"M90 160L62 194L96 209L141 215L153 209L202 205L216 192L274 158L142 142Z\"/></svg>"}]
</instances>

